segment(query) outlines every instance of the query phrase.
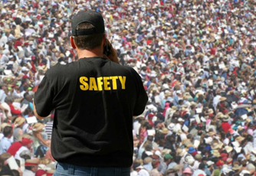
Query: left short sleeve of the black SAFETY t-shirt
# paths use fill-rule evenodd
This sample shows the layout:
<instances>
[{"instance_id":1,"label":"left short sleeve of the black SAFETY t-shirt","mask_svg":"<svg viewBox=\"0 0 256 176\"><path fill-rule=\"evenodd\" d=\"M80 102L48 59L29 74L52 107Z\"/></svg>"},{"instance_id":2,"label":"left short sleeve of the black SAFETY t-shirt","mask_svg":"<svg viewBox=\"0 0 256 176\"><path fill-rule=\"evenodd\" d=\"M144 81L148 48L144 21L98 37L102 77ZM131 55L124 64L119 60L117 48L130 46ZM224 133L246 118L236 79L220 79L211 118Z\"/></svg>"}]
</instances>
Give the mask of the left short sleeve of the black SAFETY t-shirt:
<instances>
[{"instance_id":1,"label":"left short sleeve of the black SAFETY t-shirt","mask_svg":"<svg viewBox=\"0 0 256 176\"><path fill-rule=\"evenodd\" d=\"M48 80L47 76L38 86L38 90L34 95L34 106L38 113L38 116L48 116L54 109L53 106L54 99L54 87L51 80Z\"/></svg>"}]
</instances>

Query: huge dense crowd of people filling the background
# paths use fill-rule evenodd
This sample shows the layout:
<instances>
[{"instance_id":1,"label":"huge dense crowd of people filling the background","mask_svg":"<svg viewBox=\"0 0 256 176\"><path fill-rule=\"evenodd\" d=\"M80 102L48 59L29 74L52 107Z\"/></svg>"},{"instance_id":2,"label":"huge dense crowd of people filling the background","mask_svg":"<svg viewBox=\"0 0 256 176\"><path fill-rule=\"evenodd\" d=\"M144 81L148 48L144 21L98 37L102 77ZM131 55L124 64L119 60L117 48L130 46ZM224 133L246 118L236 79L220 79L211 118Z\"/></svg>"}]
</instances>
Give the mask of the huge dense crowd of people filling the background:
<instances>
[{"instance_id":1,"label":"huge dense crowd of people filling the background","mask_svg":"<svg viewBox=\"0 0 256 176\"><path fill-rule=\"evenodd\" d=\"M1 1L0 175L54 173L54 113L35 119L33 96L48 69L77 60L71 17L86 8L149 96L131 175L255 175L253 0Z\"/></svg>"}]
</instances>

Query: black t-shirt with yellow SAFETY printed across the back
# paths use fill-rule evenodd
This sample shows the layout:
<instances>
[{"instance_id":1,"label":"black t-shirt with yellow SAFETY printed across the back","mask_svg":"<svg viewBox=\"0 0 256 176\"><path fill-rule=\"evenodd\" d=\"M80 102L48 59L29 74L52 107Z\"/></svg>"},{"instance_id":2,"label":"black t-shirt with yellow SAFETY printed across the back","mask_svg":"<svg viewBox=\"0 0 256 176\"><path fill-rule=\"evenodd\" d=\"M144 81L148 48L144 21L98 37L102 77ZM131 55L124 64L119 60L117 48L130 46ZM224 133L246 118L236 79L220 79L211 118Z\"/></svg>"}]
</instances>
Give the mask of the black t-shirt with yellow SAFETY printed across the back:
<instances>
[{"instance_id":1,"label":"black t-shirt with yellow SAFETY printed across the back","mask_svg":"<svg viewBox=\"0 0 256 176\"><path fill-rule=\"evenodd\" d=\"M80 166L130 167L133 116L148 96L139 74L103 57L49 69L34 104L39 116L54 112L51 154Z\"/></svg>"}]
</instances>

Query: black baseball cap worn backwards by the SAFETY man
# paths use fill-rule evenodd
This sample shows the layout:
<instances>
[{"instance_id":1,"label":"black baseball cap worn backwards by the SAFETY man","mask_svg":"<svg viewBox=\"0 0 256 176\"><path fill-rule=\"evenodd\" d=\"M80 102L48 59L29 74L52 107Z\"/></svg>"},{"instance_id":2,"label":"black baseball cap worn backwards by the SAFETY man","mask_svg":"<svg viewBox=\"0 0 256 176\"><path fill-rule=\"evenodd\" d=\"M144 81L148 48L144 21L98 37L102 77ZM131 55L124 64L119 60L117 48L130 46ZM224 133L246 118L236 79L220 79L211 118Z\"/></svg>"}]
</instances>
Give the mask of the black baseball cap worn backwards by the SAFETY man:
<instances>
[{"instance_id":1,"label":"black baseball cap worn backwards by the SAFETY man","mask_svg":"<svg viewBox=\"0 0 256 176\"><path fill-rule=\"evenodd\" d=\"M77 26L83 22L94 25L94 28L80 29L77 31ZM72 35L90 35L90 34L103 34L105 32L103 17L97 11L80 10L74 15L71 21Z\"/></svg>"}]
</instances>

